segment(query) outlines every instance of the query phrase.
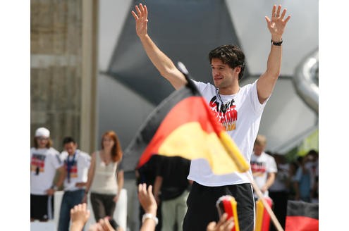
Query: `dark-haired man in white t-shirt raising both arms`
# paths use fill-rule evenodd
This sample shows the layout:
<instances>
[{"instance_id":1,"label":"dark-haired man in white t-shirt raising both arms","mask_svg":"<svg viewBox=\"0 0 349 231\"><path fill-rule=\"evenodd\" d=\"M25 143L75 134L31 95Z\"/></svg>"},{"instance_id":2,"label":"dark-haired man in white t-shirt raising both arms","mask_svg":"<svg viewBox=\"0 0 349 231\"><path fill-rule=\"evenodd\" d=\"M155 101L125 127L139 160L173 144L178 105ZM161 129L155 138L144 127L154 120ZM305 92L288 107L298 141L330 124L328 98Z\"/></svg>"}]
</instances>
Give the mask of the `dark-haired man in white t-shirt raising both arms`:
<instances>
[{"instance_id":1,"label":"dark-haired man in white t-shirt raising both arms","mask_svg":"<svg viewBox=\"0 0 349 231\"><path fill-rule=\"evenodd\" d=\"M175 89L183 87L187 83L185 75L154 44L147 33L147 7L139 4L131 13L135 18L137 36L150 61ZM281 6L274 5L271 19L265 17L271 34L271 50L267 70L258 80L240 87L239 80L243 77L245 69L245 55L238 46L224 45L209 52L214 85L194 81L216 114L217 120L226 127L226 131L245 156L247 163L250 163L264 106L281 72L282 35L290 19L290 16L285 16L286 9L281 11ZM269 41L266 42L268 43ZM234 196L238 202L240 230L254 230L255 201L247 174L252 177L251 171L214 175L206 161L191 161L188 180L192 180L193 183L187 200L188 210L183 230L206 230L209 222L218 221L216 201L226 194Z\"/></svg>"}]
</instances>

